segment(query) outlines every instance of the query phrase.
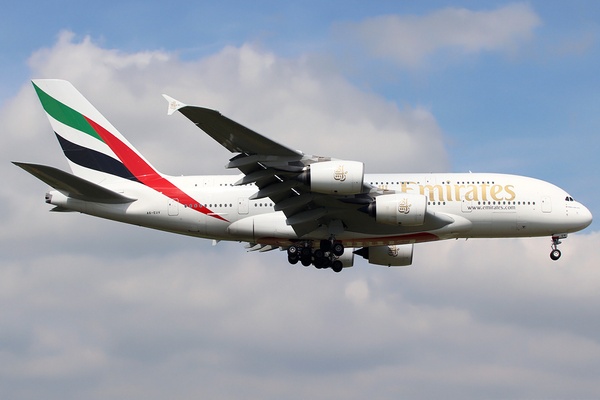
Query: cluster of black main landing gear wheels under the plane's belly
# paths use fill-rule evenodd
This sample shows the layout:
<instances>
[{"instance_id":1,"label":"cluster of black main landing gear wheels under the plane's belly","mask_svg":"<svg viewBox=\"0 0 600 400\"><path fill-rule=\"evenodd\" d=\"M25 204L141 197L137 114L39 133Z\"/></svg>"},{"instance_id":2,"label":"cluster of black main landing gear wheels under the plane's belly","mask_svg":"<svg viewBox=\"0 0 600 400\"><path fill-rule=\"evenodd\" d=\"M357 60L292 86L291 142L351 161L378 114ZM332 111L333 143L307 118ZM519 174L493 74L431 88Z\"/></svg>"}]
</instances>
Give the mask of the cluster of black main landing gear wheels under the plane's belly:
<instances>
[{"instance_id":1,"label":"cluster of black main landing gear wheels under the plane's belly","mask_svg":"<svg viewBox=\"0 0 600 400\"><path fill-rule=\"evenodd\" d=\"M303 244L293 244L287 249L290 264L298 261L305 267L314 265L317 269L331 268L335 272L341 272L344 265L338 259L344 254L344 245L335 240L321 240L318 248L313 248L312 241Z\"/></svg>"}]
</instances>

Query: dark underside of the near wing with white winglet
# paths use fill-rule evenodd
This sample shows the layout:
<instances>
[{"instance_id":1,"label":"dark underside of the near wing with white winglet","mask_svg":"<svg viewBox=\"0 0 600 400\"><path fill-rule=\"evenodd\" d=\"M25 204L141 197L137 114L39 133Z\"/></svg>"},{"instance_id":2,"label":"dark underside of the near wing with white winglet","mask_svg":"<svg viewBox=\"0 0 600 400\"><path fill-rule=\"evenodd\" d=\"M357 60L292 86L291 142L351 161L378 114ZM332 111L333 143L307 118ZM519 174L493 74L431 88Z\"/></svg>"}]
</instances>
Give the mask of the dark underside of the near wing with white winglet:
<instances>
[{"instance_id":1,"label":"dark underside of the near wing with white winglet","mask_svg":"<svg viewBox=\"0 0 600 400\"><path fill-rule=\"evenodd\" d=\"M374 219L360 210L373 201L373 196L381 194L377 188L363 183L362 169L359 187L350 194L324 193L311 186L307 173L314 164L335 161L335 167L351 162L291 150L218 111L188 106L163 96L169 102L169 114L181 112L222 146L237 153L227 164L227 168L237 168L245 175L236 185L255 184L259 190L250 199L270 198L275 211L286 215L286 223L299 237L323 226L333 235L344 230L398 232L398 227L375 226ZM362 168L362 163L356 164ZM333 179L333 174L331 171L326 176Z\"/></svg>"}]
</instances>

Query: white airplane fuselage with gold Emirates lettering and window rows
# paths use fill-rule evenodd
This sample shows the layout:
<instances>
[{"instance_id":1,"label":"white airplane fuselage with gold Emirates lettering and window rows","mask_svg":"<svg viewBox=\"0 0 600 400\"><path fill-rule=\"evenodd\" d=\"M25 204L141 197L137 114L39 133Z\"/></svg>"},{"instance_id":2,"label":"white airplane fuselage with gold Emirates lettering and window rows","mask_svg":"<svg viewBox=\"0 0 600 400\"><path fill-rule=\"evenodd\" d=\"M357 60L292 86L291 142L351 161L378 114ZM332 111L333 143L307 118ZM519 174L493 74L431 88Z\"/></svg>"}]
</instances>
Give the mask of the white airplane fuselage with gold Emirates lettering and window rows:
<instances>
[{"instance_id":1,"label":"white airplane fuselage with gold Emirates lettering and window rows","mask_svg":"<svg viewBox=\"0 0 600 400\"><path fill-rule=\"evenodd\" d=\"M125 223L216 240L289 245L298 239L325 239L323 227L299 238L269 198L250 200L253 184L234 186L238 175L169 177L195 200L181 204L142 184L116 178L103 185L138 200L101 204L49 192L49 203ZM591 213L564 190L538 179L485 173L367 174L365 183L382 192L427 197L427 212L452 223L439 228L381 225L365 214L352 229L336 235L346 247L378 246L450 238L533 237L585 228ZM209 212L200 212L200 209Z\"/></svg>"}]
</instances>

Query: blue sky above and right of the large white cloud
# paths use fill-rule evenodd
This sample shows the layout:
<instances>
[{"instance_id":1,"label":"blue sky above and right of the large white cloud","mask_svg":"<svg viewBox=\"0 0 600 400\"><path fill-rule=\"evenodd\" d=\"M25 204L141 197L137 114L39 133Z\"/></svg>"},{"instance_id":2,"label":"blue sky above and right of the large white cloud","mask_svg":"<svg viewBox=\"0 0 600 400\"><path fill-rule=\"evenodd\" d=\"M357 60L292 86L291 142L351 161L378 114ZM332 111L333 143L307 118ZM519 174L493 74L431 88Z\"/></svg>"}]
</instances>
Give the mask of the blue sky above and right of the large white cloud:
<instances>
[{"instance_id":1,"label":"blue sky above and right of the large white cloud","mask_svg":"<svg viewBox=\"0 0 600 400\"><path fill-rule=\"evenodd\" d=\"M485 12L510 4L523 5L538 19L528 37L510 44L513 48L466 52L442 45L414 66L399 64L389 55L372 56L344 32L344 26L380 15L418 19L449 7ZM32 13L32 7L41 11ZM162 2L84 7L69 1L25 1L0 17L4 31L0 72L11 77L1 85L2 100L28 79L28 57L51 46L63 30L79 39L89 35L107 49L165 50L184 60L252 43L281 57L328 58L324 62L333 63L364 90L400 105L428 108L446 136L452 170L535 175L577 190L575 195L585 201L594 197L592 189L569 183L594 180L599 14L600 7L589 1L569 6L483 2L477 7L444 1L205 2L187 7Z\"/></svg>"}]
</instances>

